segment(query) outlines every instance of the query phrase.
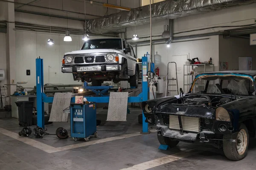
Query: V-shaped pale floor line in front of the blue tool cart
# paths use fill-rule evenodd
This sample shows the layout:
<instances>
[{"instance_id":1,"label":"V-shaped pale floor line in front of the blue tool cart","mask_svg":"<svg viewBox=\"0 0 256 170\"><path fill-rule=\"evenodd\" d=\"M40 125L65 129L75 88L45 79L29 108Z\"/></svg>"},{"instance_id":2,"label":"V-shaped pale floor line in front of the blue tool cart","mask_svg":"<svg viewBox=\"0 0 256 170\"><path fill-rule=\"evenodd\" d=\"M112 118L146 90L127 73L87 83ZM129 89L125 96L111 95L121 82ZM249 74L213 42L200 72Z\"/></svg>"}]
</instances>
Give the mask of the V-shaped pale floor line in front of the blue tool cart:
<instances>
[{"instance_id":1,"label":"V-shaped pale floor line in front of the blue tool cart","mask_svg":"<svg viewBox=\"0 0 256 170\"><path fill-rule=\"evenodd\" d=\"M99 143L110 142L110 141L114 141L114 140L118 140L118 139L125 139L125 138L143 135L142 133L137 132L137 133L125 134L125 135L121 135L121 136L113 136L113 137L109 137L109 138L105 138L105 139L98 139L98 140L89 141L89 142L71 144L71 145L67 145L67 146L63 146L63 147L52 147L48 144L44 144L42 142L36 141L31 138L19 136L17 133L12 132L10 130L3 129L1 127L0 127L0 133L3 133L4 135L9 136L13 139L17 139L20 142L29 144L30 146L36 147L36 148L43 150L44 152L47 152L47 153L55 153L55 152L59 152L59 151L63 151L63 150L70 150L70 149L74 149L74 148L78 148L78 147L90 146L93 144L99 144Z\"/></svg>"}]
</instances>

